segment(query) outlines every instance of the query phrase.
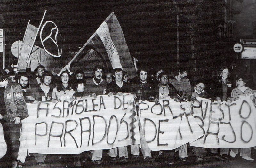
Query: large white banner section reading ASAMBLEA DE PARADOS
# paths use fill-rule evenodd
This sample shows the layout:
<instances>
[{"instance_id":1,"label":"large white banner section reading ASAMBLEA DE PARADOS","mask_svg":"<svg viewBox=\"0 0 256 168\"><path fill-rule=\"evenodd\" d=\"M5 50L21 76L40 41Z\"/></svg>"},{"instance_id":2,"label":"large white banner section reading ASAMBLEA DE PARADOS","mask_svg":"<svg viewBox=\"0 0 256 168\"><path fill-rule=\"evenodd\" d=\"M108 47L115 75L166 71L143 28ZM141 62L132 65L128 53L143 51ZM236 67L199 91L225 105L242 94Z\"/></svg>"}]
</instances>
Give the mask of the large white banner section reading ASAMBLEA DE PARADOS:
<instances>
[{"instance_id":1,"label":"large white banner section reading ASAMBLEA DE PARADOS","mask_svg":"<svg viewBox=\"0 0 256 168\"><path fill-rule=\"evenodd\" d=\"M79 154L140 144L133 95L100 95L73 102L27 103L29 153Z\"/></svg>"}]
</instances>

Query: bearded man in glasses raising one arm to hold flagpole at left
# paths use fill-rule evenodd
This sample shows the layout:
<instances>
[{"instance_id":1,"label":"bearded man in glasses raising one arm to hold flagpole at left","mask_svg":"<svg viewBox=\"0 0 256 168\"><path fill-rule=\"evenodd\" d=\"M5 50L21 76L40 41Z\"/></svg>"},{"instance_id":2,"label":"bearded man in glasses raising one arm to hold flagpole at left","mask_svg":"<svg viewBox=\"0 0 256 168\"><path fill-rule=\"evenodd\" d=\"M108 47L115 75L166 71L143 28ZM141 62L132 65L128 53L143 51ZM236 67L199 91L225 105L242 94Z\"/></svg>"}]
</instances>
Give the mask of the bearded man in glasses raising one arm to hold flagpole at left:
<instances>
[{"instance_id":1,"label":"bearded man in glasses raising one arm to hold flagpole at left","mask_svg":"<svg viewBox=\"0 0 256 168\"><path fill-rule=\"evenodd\" d=\"M31 60L29 57L26 59L26 63L27 63L26 73L29 76L30 88L36 88L36 86L38 86L38 84L41 83L40 80L43 72L45 71L45 67L43 65L38 65L34 70L34 73L32 73L30 68Z\"/></svg>"}]
</instances>

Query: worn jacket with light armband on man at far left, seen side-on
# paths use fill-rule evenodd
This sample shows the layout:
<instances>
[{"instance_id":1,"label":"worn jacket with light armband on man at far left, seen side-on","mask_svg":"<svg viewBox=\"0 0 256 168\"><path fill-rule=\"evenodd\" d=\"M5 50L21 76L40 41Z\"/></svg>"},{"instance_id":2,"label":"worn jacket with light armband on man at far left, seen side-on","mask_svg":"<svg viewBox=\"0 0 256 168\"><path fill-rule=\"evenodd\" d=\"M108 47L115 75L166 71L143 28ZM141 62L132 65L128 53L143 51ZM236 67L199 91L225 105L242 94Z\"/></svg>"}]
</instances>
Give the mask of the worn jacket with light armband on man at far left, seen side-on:
<instances>
[{"instance_id":1,"label":"worn jacket with light armband on man at far left, seen side-on","mask_svg":"<svg viewBox=\"0 0 256 168\"><path fill-rule=\"evenodd\" d=\"M28 117L27 105L22 94L21 86L18 83L8 81L4 91L4 102L10 122L15 117L20 117L21 119Z\"/></svg>"}]
</instances>

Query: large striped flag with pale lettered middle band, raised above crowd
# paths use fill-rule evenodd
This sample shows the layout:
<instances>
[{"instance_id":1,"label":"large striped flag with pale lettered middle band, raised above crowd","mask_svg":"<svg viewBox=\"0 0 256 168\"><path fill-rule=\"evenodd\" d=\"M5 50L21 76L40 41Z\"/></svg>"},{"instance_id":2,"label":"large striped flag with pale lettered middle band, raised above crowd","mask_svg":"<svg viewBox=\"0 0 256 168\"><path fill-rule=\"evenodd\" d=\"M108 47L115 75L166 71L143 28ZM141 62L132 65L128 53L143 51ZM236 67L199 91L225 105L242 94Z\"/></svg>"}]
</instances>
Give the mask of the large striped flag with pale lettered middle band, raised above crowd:
<instances>
[{"instance_id":1,"label":"large striped flag with pale lettered middle band, raised above crowd","mask_svg":"<svg viewBox=\"0 0 256 168\"><path fill-rule=\"evenodd\" d=\"M114 12L100 25L87 43L100 54L107 69L122 68L129 78L137 76L122 28Z\"/></svg>"}]
</instances>

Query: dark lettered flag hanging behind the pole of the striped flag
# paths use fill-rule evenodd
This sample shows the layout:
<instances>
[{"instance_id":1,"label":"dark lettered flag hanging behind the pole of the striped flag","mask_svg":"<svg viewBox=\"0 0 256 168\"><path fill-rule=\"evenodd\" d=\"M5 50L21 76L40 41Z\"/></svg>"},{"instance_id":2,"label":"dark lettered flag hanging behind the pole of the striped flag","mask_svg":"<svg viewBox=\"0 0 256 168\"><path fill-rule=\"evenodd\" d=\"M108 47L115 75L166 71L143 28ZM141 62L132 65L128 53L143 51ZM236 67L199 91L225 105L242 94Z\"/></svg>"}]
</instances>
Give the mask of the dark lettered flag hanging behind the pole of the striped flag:
<instances>
[{"instance_id":1,"label":"dark lettered flag hanging behind the pole of the striped flag","mask_svg":"<svg viewBox=\"0 0 256 168\"><path fill-rule=\"evenodd\" d=\"M66 59L66 64L75 56L77 52L69 52L69 57ZM85 77L92 77L92 69L96 65L102 65L104 67L103 61L100 55L93 49L88 49L80 52L77 59L72 62L72 71L82 70ZM106 68L106 67L104 67Z\"/></svg>"}]
</instances>

